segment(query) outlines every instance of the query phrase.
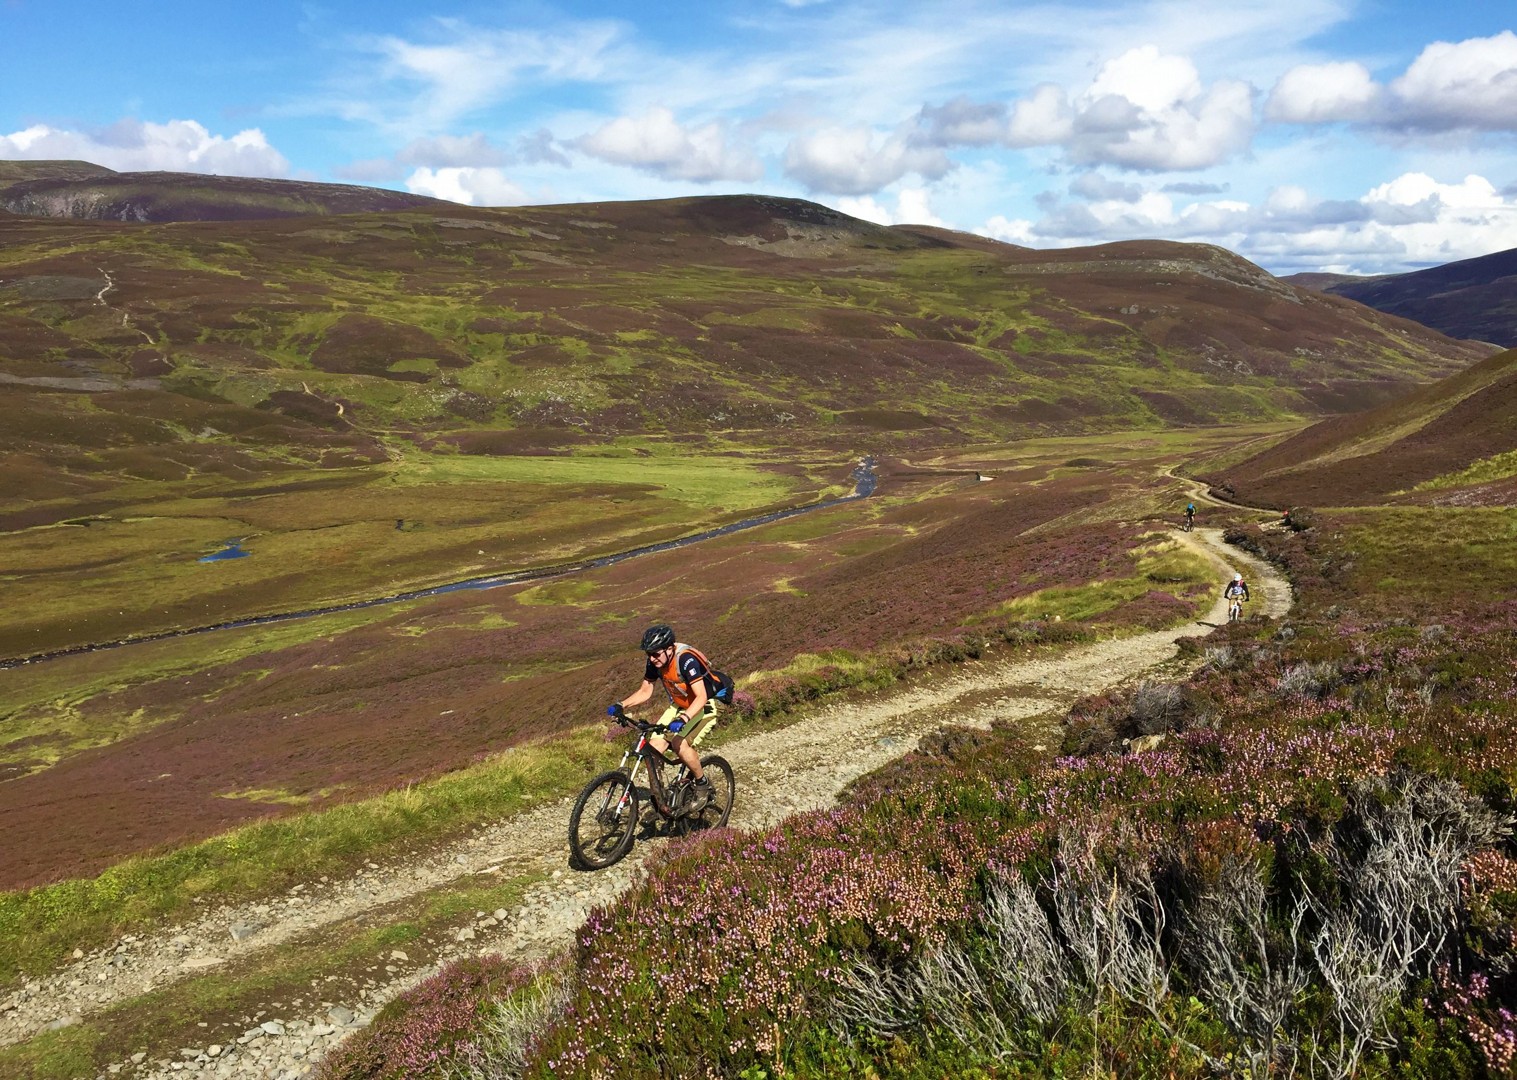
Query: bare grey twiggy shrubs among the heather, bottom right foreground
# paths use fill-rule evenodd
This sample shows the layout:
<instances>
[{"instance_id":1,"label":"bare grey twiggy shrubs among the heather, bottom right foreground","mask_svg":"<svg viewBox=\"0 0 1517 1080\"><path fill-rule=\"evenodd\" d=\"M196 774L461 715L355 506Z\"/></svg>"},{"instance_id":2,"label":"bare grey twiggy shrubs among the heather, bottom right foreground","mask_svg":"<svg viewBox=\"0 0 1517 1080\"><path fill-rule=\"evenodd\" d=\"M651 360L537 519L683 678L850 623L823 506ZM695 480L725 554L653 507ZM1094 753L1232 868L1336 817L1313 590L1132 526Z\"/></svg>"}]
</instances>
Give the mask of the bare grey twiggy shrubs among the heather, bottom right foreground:
<instances>
[{"instance_id":1,"label":"bare grey twiggy shrubs among the heather, bottom right foreground","mask_svg":"<svg viewBox=\"0 0 1517 1080\"><path fill-rule=\"evenodd\" d=\"M950 942L903 969L854 960L839 978L833 1028L843 1039L916 1031L1006 1056L1027 1022L1050 1024L1065 1006L1095 1022L1117 998L1217 1072L1352 1077L1370 1047L1387 1045L1387 1010L1458 930L1461 865L1512 822L1452 780L1364 780L1349 802L1338 828L1309 845L1335 886L1305 890L1283 916L1256 862L1224 862L1203 887L1171 893L1147 859L1120 854L1141 846L1126 830L1065 827L1038 889L1013 874L988 890L980 948ZM1176 966L1232 1033L1227 1060L1170 1027ZM1333 997L1326 1030L1297 1012L1314 981Z\"/></svg>"}]
</instances>

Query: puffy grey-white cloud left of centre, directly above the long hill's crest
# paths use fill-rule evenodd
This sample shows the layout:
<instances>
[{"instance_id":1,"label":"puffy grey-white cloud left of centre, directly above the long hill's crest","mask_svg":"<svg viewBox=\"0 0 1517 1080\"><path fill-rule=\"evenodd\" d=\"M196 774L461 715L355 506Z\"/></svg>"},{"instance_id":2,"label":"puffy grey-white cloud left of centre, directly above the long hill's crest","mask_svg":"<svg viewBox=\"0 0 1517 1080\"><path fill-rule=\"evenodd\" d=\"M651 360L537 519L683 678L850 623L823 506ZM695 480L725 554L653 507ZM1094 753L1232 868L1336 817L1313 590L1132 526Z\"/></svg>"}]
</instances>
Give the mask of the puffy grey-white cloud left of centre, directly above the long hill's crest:
<instances>
[{"instance_id":1,"label":"puffy grey-white cloud left of centre, directly above the long hill's crest","mask_svg":"<svg viewBox=\"0 0 1517 1080\"><path fill-rule=\"evenodd\" d=\"M672 111L654 108L637 117L617 117L578 140L592 158L628 165L669 181L755 181L763 165L748 150L728 144L725 124L689 127Z\"/></svg>"}]
</instances>

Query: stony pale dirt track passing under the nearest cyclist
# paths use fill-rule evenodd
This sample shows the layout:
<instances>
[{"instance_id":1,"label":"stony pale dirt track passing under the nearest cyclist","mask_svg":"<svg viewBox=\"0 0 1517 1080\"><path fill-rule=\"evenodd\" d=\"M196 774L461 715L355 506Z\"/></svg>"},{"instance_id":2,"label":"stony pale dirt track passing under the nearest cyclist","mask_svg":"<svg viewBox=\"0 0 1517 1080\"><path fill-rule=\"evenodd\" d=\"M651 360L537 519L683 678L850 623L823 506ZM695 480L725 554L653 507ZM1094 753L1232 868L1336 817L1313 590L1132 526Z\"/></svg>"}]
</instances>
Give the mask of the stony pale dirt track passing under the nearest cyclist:
<instances>
[{"instance_id":1,"label":"stony pale dirt track passing under the nearest cyclist","mask_svg":"<svg viewBox=\"0 0 1517 1080\"><path fill-rule=\"evenodd\" d=\"M1224 549L1217 531L1174 537L1214 561L1218 592L1233 569L1258 582L1252 584L1250 613L1279 617L1289 610L1289 586L1262 561ZM824 705L806 724L724 743L721 752L739 777L731 824L762 828L828 807L850 781L907 752L921 736L948 722L988 727L992 719L1047 717L1041 721L1047 736L1057 739L1056 710L1082 695L1142 677L1174 658L1179 637L1204 634L1224 617L1218 598L1203 620L1177 629L1097 642L1050 658L966 663L924 686ZM1036 727L1032 734L1038 737ZM745 799L745 793L760 790L763 799ZM416 898L449 883L499 880L496 875L540 878L511 910L476 912L441 940L388 951L363 978L317 980L299 1007L270 1001L249 1013L246 1028L208 1030L203 1045L185 1047L174 1059L123 1047L121 1059L103 1074L155 1080L187 1074L228 1080L305 1077L322 1054L372 1019L384 1003L441 965L481 953L531 960L563 948L592 907L614 899L633 883L648 851L657 846L639 843L628 859L605 871L573 871L564 836L567 815L567 799L542 805L400 865L370 863L347 880L311 881L278 899L215 907L185 925L76 953L64 969L30 980L0 1001L0 1045L77 1024L179 980L235 971L281 947L320 940L323 930L343 921L363 916L367 925L404 922Z\"/></svg>"}]
</instances>

